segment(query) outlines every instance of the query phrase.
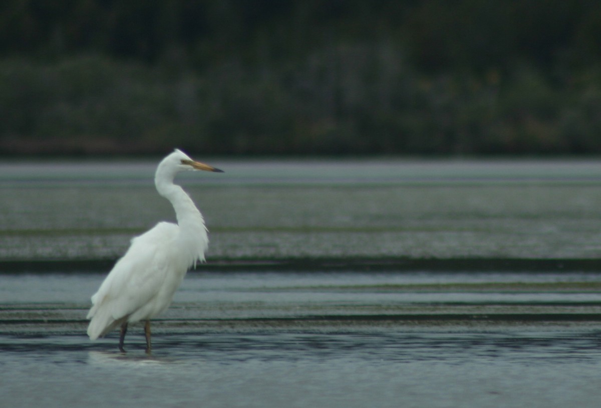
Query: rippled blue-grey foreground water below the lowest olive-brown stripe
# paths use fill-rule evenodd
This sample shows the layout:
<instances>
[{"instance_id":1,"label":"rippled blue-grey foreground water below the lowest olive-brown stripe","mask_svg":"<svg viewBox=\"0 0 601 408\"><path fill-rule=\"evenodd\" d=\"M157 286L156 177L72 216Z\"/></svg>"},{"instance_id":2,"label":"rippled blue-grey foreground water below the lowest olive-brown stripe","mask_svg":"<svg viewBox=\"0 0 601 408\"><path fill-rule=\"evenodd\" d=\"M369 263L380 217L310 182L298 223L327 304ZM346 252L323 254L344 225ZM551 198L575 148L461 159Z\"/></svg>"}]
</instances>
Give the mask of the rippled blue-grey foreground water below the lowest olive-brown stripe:
<instances>
[{"instance_id":1,"label":"rippled blue-grey foreground water below the lowest olive-brown stripe","mask_svg":"<svg viewBox=\"0 0 601 408\"><path fill-rule=\"evenodd\" d=\"M187 335L2 351L5 406L597 407L599 328ZM169 338L171 339L171 338Z\"/></svg>"}]
</instances>

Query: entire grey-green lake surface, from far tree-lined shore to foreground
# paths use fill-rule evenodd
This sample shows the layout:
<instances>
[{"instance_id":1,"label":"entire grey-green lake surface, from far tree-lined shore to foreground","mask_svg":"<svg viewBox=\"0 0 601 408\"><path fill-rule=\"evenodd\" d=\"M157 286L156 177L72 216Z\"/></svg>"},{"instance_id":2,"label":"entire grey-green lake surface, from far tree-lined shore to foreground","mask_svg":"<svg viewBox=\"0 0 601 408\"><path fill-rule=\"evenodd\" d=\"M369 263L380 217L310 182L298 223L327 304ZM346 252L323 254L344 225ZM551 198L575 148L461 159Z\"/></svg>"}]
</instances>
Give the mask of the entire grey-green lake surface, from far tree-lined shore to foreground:
<instances>
[{"instance_id":1,"label":"entire grey-green lake surface, from far tree-lined shore to foreground","mask_svg":"<svg viewBox=\"0 0 601 408\"><path fill-rule=\"evenodd\" d=\"M0 163L0 406L598 406L597 161L206 159L207 264L121 354L85 314L157 161Z\"/></svg>"}]
</instances>

